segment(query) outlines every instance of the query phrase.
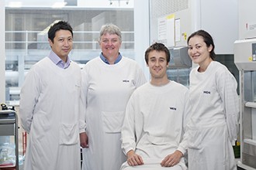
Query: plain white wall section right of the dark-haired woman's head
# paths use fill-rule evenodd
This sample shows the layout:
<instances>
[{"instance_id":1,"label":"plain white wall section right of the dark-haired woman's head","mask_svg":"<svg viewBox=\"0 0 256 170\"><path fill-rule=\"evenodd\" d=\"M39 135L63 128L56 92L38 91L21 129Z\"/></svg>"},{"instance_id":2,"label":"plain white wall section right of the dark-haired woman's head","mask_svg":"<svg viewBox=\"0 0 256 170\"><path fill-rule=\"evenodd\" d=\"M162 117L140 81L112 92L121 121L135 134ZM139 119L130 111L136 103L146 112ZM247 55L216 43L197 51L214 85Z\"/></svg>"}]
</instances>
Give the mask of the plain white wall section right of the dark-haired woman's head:
<instances>
[{"instance_id":1,"label":"plain white wall section right of the dark-haired woman's head","mask_svg":"<svg viewBox=\"0 0 256 170\"><path fill-rule=\"evenodd\" d=\"M215 53L234 54L234 42L238 39L238 0L200 2L200 29L205 29L213 36Z\"/></svg>"}]
</instances>

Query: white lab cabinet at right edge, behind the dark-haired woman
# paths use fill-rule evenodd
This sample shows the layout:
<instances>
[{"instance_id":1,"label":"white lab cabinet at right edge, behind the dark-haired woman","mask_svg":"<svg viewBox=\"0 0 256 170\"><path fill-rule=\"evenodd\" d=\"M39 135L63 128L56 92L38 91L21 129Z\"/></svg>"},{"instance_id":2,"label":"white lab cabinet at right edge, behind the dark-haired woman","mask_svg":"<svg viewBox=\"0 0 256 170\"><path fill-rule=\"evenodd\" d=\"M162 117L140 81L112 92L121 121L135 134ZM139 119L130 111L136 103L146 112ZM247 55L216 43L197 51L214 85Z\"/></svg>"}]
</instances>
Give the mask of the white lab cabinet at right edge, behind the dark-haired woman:
<instances>
[{"instance_id":1,"label":"white lab cabinet at right edge, behind the dark-haired woman","mask_svg":"<svg viewBox=\"0 0 256 170\"><path fill-rule=\"evenodd\" d=\"M256 169L256 39L234 42L240 78L240 168Z\"/></svg>"}]
</instances>

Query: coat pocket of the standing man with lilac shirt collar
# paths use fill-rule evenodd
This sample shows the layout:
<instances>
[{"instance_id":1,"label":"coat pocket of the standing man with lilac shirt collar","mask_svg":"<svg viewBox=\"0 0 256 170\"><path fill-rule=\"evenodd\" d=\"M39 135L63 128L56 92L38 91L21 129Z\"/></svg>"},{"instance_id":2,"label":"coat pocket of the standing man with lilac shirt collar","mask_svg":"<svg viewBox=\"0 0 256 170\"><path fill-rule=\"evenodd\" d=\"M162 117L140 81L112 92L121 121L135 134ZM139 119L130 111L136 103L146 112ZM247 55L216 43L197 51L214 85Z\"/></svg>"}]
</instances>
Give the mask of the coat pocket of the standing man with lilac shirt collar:
<instances>
[{"instance_id":1,"label":"coat pocket of the standing man with lilac shirt collar","mask_svg":"<svg viewBox=\"0 0 256 170\"><path fill-rule=\"evenodd\" d=\"M60 145L77 144L78 134L78 124L61 124Z\"/></svg>"}]
</instances>

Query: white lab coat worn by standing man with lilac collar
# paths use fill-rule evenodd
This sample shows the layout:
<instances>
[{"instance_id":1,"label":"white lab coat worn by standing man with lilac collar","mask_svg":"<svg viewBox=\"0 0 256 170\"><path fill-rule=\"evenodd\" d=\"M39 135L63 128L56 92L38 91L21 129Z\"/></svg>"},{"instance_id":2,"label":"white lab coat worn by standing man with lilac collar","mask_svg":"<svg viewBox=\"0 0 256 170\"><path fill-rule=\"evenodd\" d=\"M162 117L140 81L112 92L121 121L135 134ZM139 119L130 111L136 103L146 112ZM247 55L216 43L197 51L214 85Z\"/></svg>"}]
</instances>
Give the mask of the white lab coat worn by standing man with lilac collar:
<instances>
[{"instance_id":1,"label":"white lab coat worn by standing man with lilac collar","mask_svg":"<svg viewBox=\"0 0 256 170\"><path fill-rule=\"evenodd\" d=\"M30 69L20 93L19 116L29 133L24 169L80 169L80 87L74 62L64 70L45 57Z\"/></svg>"}]
</instances>

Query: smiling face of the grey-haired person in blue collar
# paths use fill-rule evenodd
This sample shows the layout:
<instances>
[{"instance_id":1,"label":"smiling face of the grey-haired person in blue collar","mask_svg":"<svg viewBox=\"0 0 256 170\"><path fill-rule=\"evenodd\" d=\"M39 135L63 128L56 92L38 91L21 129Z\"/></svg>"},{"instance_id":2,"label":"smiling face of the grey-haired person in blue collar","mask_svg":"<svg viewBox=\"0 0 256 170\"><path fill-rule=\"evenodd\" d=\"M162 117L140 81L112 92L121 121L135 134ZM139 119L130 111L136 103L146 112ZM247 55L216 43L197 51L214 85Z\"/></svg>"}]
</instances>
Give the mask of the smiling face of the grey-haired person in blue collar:
<instances>
[{"instance_id":1,"label":"smiling face of the grey-haired person in blue collar","mask_svg":"<svg viewBox=\"0 0 256 170\"><path fill-rule=\"evenodd\" d=\"M107 59L117 58L119 56L119 49L121 40L116 34L109 34L108 32L100 37L99 45L102 49L102 54Z\"/></svg>"}]
</instances>

